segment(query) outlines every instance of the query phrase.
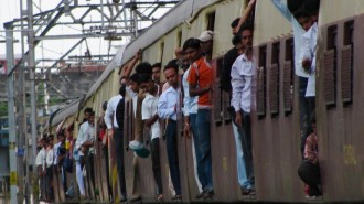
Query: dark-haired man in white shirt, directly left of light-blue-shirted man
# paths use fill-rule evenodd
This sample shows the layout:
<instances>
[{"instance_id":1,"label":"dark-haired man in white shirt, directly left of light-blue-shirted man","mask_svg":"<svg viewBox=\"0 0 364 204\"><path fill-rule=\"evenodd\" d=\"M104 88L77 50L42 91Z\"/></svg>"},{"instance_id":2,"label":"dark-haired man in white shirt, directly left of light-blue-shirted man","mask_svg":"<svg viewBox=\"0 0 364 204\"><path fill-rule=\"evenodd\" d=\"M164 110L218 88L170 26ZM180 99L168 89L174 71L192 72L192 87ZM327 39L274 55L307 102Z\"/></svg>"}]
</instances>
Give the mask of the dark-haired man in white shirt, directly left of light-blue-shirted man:
<instances>
[{"instance_id":1,"label":"dark-haired man in white shirt, directly left of light-blue-shirted man","mask_svg":"<svg viewBox=\"0 0 364 204\"><path fill-rule=\"evenodd\" d=\"M152 170L154 181L158 187L157 201L163 201L162 172L159 153L160 124L157 114L158 107L158 85L150 75L140 75L140 88L147 92L146 98L141 105L141 118L144 121L144 128L149 129L150 151L152 160Z\"/></svg>"}]
</instances>

